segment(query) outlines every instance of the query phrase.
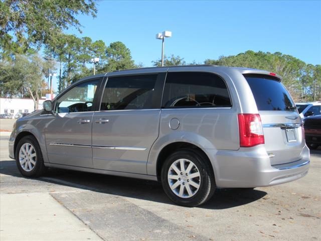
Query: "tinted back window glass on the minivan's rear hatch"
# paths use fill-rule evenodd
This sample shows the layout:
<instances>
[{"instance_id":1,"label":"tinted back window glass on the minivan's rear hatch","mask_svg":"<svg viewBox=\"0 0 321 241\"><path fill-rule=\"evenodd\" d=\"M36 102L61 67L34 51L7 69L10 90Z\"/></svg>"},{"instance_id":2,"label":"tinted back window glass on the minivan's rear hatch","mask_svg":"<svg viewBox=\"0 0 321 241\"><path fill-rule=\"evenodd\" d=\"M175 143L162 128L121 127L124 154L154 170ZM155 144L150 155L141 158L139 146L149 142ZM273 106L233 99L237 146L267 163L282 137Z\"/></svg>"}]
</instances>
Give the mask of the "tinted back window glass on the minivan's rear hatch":
<instances>
[{"instance_id":1,"label":"tinted back window glass on the minivan's rear hatch","mask_svg":"<svg viewBox=\"0 0 321 241\"><path fill-rule=\"evenodd\" d=\"M244 75L252 93L258 110L295 110L292 98L279 81L269 76Z\"/></svg>"}]
</instances>

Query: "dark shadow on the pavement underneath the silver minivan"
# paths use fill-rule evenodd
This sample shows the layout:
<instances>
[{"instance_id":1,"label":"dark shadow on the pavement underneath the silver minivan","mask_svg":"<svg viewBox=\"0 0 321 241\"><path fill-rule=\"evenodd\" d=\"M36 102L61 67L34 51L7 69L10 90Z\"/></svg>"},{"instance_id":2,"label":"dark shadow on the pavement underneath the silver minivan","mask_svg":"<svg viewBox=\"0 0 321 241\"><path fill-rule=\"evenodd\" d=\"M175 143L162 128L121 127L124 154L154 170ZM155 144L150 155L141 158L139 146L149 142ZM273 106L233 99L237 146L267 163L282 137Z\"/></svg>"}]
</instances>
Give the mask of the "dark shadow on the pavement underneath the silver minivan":
<instances>
[{"instance_id":1,"label":"dark shadow on the pavement underneath the silver minivan","mask_svg":"<svg viewBox=\"0 0 321 241\"><path fill-rule=\"evenodd\" d=\"M15 161L1 161L0 173L23 177L16 167ZM26 178L29 179L29 178ZM68 187L76 187L99 193L118 195L123 197L149 200L153 202L173 204L166 196L162 185L155 181L117 177L111 175L70 171L50 168L44 176L33 180L52 183ZM256 189L227 188L216 189L213 197L199 208L227 209L254 202L267 193Z\"/></svg>"}]
</instances>

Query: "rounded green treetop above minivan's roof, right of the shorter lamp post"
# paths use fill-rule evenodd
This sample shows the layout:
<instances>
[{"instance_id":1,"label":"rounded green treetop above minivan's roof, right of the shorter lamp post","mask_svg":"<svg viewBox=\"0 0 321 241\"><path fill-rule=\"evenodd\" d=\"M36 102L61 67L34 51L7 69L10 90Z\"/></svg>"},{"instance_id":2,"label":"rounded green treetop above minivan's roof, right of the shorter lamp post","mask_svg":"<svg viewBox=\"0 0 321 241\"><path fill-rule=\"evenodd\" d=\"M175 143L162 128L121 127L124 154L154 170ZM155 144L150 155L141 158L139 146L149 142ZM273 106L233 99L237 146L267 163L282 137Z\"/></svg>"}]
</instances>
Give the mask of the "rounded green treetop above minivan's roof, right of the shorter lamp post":
<instances>
[{"instance_id":1,"label":"rounded green treetop above minivan's roof, right of the shorter lamp post","mask_svg":"<svg viewBox=\"0 0 321 241\"><path fill-rule=\"evenodd\" d=\"M115 70L132 69L136 65L131 58L130 50L122 42L111 43L106 50L107 63L97 68L98 73Z\"/></svg>"}]
</instances>

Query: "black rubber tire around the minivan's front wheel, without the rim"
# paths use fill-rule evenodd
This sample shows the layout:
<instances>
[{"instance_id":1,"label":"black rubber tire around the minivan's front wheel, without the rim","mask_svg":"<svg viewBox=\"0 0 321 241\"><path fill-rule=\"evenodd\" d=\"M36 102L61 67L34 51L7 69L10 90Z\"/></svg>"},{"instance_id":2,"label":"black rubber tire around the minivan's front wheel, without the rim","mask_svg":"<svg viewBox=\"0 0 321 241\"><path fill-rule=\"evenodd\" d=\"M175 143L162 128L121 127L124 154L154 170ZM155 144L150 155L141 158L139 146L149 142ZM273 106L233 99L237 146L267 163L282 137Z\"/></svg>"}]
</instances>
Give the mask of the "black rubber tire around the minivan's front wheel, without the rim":
<instances>
[{"instance_id":1,"label":"black rubber tire around the minivan's front wheel, without the rim","mask_svg":"<svg viewBox=\"0 0 321 241\"><path fill-rule=\"evenodd\" d=\"M26 143L31 144L34 147L34 150L35 150L34 153L36 154L36 158L35 158L36 164L34 165L31 171L25 171L22 165L20 164L20 160L19 160L20 149ZM25 177L39 177L45 173L46 167L44 165L42 152L38 144L38 141L34 136L26 136L19 141L16 149L16 164L19 172Z\"/></svg>"}]
</instances>

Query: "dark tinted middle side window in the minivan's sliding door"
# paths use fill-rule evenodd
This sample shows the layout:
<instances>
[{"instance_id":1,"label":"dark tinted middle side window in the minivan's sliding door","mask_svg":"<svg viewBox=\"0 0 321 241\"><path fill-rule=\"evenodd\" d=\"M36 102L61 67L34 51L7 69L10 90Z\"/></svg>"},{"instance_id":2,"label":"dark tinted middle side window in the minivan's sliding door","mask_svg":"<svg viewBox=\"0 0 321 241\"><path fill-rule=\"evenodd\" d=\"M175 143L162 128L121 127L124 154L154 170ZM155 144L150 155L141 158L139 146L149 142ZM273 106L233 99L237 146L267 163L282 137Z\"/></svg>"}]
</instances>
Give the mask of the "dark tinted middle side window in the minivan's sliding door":
<instances>
[{"instance_id":1,"label":"dark tinted middle side window in the minivan's sliding door","mask_svg":"<svg viewBox=\"0 0 321 241\"><path fill-rule=\"evenodd\" d=\"M150 109L157 75L110 77L100 110Z\"/></svg>"}]
</instances>

